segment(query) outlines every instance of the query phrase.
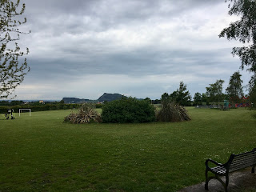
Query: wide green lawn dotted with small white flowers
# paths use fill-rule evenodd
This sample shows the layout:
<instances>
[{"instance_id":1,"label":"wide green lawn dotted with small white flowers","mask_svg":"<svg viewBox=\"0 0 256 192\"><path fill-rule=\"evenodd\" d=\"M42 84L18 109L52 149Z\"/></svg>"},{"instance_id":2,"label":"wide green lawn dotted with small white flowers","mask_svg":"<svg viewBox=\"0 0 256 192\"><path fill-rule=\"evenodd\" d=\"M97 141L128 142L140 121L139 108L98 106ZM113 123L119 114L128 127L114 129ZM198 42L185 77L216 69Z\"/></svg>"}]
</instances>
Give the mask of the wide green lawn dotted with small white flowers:
<instances>
[{"instance_id":1,"label":"wide green lawn dotted with small white flowers","mask_svg":"<svg viewBox=\"0 0 256 192\"><path fill-rule=\"evenodd\" d=\"M256 147L245 109L188 108L192 121L63 123L69 110L0 117L0 191L177 191L205 180L206 158Z\"/></svg>"}]
</instances>

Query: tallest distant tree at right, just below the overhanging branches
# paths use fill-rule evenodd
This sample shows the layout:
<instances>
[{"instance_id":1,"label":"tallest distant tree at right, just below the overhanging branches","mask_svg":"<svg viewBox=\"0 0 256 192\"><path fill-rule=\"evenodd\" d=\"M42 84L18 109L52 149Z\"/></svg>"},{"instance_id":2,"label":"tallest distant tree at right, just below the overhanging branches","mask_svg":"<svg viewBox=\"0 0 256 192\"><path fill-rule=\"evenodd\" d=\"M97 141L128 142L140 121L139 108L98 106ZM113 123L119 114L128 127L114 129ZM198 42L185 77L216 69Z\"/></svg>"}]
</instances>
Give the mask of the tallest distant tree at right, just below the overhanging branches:
<instances>
[{"instance_id":1,"label":"tallest distant tree at right, just below the overhanging branches","mask_svg":"<svg viewBox=\"0 0 256 192\"><path fill-rule=\"evenodd\" d=\"M243 96L241 76L242 74L240 74L239 71L234 72L230 77L230 84L226 88L226 93L233 102L239 102L239 98Z\"/></svg>"}]
</instances>

